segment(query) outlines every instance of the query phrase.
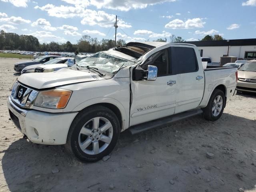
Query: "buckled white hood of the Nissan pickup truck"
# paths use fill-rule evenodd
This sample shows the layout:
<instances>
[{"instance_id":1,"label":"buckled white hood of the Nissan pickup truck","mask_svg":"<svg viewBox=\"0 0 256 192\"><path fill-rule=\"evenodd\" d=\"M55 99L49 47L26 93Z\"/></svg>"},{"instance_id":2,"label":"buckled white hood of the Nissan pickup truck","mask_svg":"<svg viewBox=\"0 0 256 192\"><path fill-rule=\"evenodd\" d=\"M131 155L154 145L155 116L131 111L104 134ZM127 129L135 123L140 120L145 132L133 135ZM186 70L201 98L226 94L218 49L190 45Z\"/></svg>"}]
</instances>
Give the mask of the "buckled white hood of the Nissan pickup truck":
<instances>
[{"instance_id":1,"label":"buckled white hood of the Nissan pickup truck","mask_svg":"<svg viewBox=\"0 0 256 192\"><path fill-rule=\"evenodd\" d=\"M98 74L95 74L93 72L87 72L85 70L78 71L67 68L63 68L50 73L22 74L18 78L19 82L36 89L52 88L66 84L96 80L104 80L104 78L101 78L100 76L98 76Z\"/></svg>"}]
</instances>

